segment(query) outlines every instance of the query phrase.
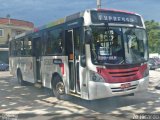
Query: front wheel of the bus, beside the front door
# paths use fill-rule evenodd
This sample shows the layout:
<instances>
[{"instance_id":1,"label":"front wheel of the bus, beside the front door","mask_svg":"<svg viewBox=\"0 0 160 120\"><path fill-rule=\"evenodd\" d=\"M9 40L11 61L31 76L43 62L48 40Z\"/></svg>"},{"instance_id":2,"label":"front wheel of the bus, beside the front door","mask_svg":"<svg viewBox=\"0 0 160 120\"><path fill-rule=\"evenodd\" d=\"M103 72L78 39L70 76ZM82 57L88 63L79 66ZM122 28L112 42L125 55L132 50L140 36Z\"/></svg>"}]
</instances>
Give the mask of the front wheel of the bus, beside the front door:
<instances>
[{"instance_id":1,"label":"front wheel of the bus, beside the front door","mask_svg":"<svg viewBox=\"0 0 160 120\"><path fill-rule=\"evenodd\" d=\"M65 86L60 76L56 75L52 81L52 91L58 99L65 99Z\"/></svg>"}]
</instances>

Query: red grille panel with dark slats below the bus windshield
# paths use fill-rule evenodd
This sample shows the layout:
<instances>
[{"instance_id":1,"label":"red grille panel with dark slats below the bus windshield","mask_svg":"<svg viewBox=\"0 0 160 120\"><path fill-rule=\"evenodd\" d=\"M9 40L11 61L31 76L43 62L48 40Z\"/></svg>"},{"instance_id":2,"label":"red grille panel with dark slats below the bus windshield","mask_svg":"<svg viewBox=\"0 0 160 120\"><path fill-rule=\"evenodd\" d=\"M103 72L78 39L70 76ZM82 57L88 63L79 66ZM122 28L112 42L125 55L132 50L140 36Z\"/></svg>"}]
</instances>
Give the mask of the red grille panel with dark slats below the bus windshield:
<instances>
[{"instance_id":1,"label":"red grille panel with dark slats below the bus windshield","mask_svg":"<svg viewBox=\"0 0 160 120\"><path fill-rule=\"evenodd\" d=\"M146 69L147 64L127 69L97 68L97 72L107 83L123 83L142 79Z\"/></svg>"}]
</instances>

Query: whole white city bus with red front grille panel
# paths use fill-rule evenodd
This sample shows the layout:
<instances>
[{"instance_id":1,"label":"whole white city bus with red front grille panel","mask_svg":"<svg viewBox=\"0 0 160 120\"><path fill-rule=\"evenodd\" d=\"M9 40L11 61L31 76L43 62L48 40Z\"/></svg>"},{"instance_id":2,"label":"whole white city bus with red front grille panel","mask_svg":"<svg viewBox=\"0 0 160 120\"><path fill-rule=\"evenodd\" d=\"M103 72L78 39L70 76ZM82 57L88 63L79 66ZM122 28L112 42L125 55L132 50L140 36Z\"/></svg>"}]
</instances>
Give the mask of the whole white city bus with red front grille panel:
<instances>
[{"instance_id":1,"label":"whole white city bus with red front grille panel","mask_svg":"<svg viewBox=\"0 0 160 120\"><path fill-rule=\"evenodd\" d=\"M88 9L16 36L9 49L10 72L18 82L40 83L59 99L147 89L148 40L136 13Z\"/></svg>"}]
</instances>

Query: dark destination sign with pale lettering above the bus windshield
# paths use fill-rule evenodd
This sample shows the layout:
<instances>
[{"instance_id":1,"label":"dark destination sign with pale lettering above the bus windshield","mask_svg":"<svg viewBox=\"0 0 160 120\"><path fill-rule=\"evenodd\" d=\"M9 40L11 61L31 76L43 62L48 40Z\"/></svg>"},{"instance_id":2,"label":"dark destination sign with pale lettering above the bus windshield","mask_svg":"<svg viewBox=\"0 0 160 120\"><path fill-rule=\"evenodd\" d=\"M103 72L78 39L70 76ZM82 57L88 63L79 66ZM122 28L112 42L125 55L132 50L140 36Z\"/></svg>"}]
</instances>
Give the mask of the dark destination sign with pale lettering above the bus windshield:
<instances>
[{"instance_id":1,"label":"dark destination sign with pale lettering above the bus windshield","mask_svg":"<svg viewBox=\"0 0 160 120\"><path fill-rule=\"evenodd\" d=\"M142 26L140 16L129 13L113 11L92 11L91 18L93 23L108 22Z\"/></svg>"}]
</instances>

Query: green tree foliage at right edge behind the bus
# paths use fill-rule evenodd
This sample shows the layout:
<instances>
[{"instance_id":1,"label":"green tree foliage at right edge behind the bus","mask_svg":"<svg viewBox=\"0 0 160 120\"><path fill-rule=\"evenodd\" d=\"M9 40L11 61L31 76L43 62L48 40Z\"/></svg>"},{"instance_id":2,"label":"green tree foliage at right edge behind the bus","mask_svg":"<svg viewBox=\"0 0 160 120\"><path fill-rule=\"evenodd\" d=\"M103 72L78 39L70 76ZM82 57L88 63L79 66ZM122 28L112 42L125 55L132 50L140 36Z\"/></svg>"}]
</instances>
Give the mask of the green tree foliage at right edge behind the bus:
<instances>
[{"instance_id":1,"label":"green tree foliage at right edge behind the bus","mask_svg":"<svg viewBox=\"0 0 160 120\"><path fill-rule=\"evenodd\" d=\"M145 21L148 34L149 52L160 53L160 24L154 20Z\"/></svg>"}]
</instances>

